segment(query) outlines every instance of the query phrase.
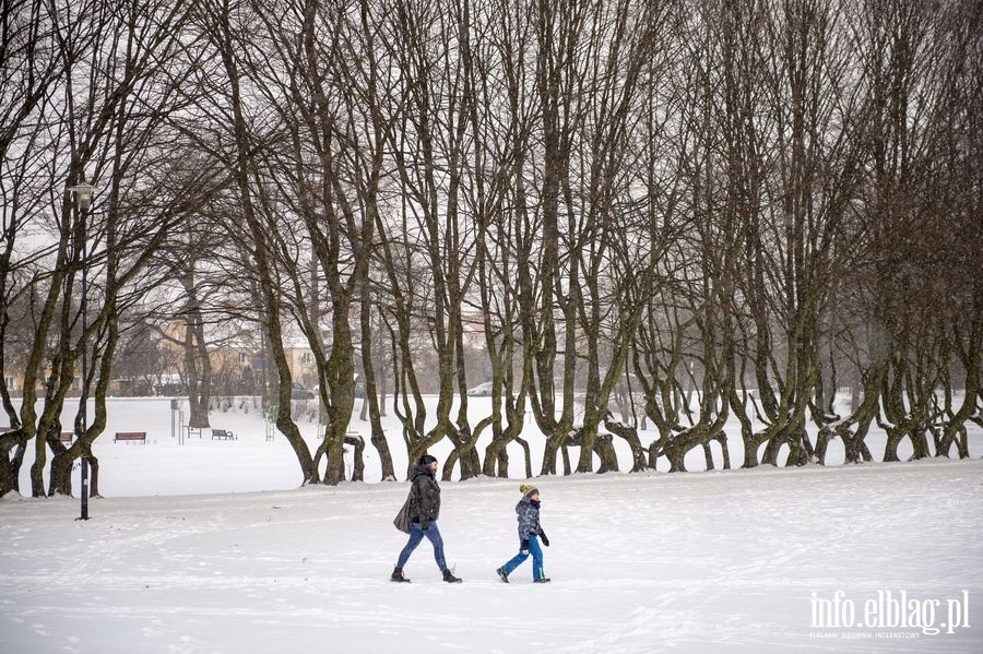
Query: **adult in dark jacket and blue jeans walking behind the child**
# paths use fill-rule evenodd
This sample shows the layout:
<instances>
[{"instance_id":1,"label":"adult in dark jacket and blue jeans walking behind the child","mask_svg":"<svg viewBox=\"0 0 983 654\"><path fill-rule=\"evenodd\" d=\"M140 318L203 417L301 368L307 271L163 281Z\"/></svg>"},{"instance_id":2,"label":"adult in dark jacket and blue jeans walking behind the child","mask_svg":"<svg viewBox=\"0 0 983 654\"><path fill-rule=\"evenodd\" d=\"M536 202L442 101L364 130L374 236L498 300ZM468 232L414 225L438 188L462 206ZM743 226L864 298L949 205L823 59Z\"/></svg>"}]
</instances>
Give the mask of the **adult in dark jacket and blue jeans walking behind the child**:
<instances>
[{"instance_id":1,"label":"adult in dark jacket and blue jeans walking behind the child","mask_svg":"<svg viewBox=\"0 0 983 654\"><path fill-rule=\"evenodd\" d=\"M434 545L434 558L437 567L443 573L443 581L459 583L461 580L447 569L443 559L443 538L437 528L437 518L440 515L440 486L437 485L437 459L424 454L410 475L410 542L400 552L400 560L392 571L392 581L408 582L403 575L403 567L410 560L410 555L424 539L424 536Z\"/></svg>"}]
</instances>

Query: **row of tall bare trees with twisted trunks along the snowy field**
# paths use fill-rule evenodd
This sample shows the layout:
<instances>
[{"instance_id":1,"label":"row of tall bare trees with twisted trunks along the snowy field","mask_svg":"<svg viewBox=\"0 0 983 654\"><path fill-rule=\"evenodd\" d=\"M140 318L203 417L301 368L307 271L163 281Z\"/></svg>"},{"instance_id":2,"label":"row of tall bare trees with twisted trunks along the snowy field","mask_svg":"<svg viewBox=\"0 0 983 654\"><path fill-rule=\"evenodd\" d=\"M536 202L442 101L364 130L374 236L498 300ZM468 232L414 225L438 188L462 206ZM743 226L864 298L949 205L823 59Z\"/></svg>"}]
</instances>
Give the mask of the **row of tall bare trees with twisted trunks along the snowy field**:
<instances>
[{"instance_id":1,"label":"row of tall bare trees with twisted trunks along the snowy field","mask_svg":"<svg viewBox=\"0 0 983 654\"><path fill-rule=\"evenodd\" d=\"M526 414L541 474L617 469L613 438L632 471L698 448L712 466L714 441L730 465L734 425L744 466L822 463L834 438L871 460L875 424L885 460L905 439L967 456L983 427L979 2L14 5L0 356L31 378L19 409L0 384L0 494L32 440L32 494L48 450L47 492L70 492L72 462L97 464L120 333L174 320L204 424L209 329L260 329L305 484L344 478L356 371L383 478L389 380L410 460L447 439L448 478L505 475L512 442L532 475ZM82 180L100 188L85 235ZM493 383L477 424L472 317ZM293 332L327 407L313 452ZM83 340L96 419L66 449Z\"/></svg>"}]
</instances>

